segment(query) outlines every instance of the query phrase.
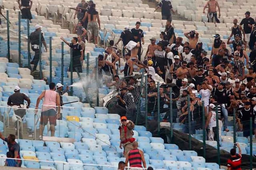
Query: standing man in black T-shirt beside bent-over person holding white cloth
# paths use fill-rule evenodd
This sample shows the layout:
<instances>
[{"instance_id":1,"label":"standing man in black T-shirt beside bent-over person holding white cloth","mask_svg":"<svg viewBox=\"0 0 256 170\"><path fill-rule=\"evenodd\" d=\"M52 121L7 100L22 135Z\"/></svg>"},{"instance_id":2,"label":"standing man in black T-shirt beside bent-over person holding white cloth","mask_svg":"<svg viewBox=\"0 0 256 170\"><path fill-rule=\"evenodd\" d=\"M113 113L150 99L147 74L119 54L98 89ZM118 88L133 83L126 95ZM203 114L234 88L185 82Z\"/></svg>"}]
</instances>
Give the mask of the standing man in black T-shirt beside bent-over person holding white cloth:
<instances>
[{"instance_id":1,"label":"standing man in black T-shirt beside bent-over person holding white cloth","mask_svg":"<svg viewBox=\"0 0 256 170\"><path fill-rule=\"evenodd\" d=\"M143 34L143 30L140 29L140 22L136 22L135 28L132 28L131 30L132 34L133 34L133 38L134 38L134 42L140 42L140 47L138 49L138 59L140 60L141 57L141 42L144 45L144 34Z\"/></svg>"}]
</instances>

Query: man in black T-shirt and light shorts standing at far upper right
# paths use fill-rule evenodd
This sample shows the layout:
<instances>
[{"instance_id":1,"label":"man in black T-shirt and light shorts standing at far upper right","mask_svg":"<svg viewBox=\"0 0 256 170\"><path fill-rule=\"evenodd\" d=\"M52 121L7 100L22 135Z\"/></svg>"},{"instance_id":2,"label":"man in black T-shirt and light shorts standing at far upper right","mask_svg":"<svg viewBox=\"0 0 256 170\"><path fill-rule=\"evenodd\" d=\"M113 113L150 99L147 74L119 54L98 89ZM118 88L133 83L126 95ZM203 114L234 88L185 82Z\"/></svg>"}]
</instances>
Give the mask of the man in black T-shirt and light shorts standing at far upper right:
<instances>
[{"instance_id":1,"label":"man in black T-shirt and light shorts standing at far upper right","mask_svg":"<svg viewBox=\"0 0 256 170\"><path fill-rule=\"evenodd\" d=\"M250 17L250 12L247 11L245 13L245 18L242 19L240 22L240 25L244 25L244 33L245 33L245 41L246 43L249 42L250 40L250 34L252 32L252 25L255 24L255 21L253 18Z\"/></svg>"}]
</instances>

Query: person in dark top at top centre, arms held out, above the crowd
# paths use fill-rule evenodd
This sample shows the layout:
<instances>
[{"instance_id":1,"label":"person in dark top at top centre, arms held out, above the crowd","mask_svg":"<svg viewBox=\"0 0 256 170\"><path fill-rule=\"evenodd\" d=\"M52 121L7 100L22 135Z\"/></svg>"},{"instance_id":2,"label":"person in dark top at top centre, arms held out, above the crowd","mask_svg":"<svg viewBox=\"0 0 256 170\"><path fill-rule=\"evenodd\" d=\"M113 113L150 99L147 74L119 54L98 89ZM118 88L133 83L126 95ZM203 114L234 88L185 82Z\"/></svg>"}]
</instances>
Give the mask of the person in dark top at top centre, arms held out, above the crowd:
<instances>
[{"instance_id":1,"label":"person in dark top at top centre, arms held out, above the crowd","mask_svg":"<svg viewBox=\"0 0 256 170\"><path fill-rule=\"evenodd\" d=\"M170 10L175 14L175 11L172 9L172 2L170 0L162 0L154 12L156 12L158 8L161 8L162 10L162 20L170 20L172 22L172 14Z\"/></svg>"}]
</instances>

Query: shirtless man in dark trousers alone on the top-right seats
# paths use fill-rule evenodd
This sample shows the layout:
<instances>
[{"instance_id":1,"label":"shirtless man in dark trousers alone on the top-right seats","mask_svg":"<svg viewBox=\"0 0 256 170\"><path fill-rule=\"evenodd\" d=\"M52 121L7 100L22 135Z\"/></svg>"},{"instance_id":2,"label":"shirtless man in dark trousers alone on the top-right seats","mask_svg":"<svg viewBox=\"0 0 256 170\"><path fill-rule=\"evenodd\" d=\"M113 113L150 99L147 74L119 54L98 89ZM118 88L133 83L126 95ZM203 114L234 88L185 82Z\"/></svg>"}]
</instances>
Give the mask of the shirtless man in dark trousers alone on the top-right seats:
<instances>
[{"instance_id":1,"label":"shirtless man in dark trousers alone on the top-right seats","mask_svg":"<svg viewBox=\"0 0 256 170\"><path fill-rule=\"evenodd\" d=\"M205 4L203 13L205 14L205 8L208 8L208 12L207 12L208 22L220 23L220 20L217 17L217 7L218 7L219 17L220 17L220 6L216 0L209 0Z\"/></svg>"}]
</instances>

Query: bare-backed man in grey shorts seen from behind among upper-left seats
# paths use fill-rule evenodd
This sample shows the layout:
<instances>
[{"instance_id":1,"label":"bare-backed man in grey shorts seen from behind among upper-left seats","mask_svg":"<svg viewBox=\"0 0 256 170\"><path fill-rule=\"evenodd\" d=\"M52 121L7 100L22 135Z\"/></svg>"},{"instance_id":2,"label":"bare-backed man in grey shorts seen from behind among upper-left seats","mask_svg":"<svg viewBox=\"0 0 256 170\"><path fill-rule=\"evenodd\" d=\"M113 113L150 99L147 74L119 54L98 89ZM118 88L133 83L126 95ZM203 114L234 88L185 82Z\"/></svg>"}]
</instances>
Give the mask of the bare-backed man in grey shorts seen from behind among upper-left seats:
<instances>
[{"instance_id":1,"label":"bare-backed man in grey shorts seen from behind among upper-left seats","mask_svg":"<svg viewBox=\"0 0 256 170\"><path fill-rule=\"evenodd\" d=\"M92 4L88 12L85 13L83 22L88 17L88 26L87 30L90 31L90 34L94 36L95 46L98 46L98 34L100 30L100 17L98 11L96 11L96 5ZM99 26L98 26L99 25ZM90 37L88 37L88 42L90 43Z\"/></svg>"}]
</instances>

